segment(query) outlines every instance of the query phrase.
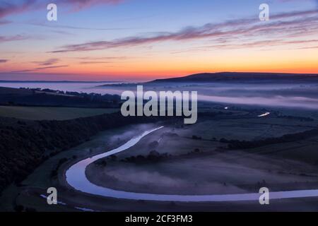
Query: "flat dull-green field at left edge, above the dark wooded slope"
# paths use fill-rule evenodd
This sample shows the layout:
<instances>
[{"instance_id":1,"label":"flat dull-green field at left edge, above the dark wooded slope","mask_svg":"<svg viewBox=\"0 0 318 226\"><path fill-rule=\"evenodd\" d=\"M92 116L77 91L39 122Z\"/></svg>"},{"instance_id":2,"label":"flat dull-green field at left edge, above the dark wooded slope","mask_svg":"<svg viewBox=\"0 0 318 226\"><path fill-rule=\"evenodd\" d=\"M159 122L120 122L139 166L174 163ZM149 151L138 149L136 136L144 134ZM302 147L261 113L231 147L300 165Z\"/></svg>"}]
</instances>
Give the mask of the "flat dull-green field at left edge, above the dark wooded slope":
<instances>
[{"instance_id":1,"label":"flat dull-green field at left edge, above the dark wooded slope","mask_svg":"<svg viewBox=\"0 0 318 226\"><path fill-rule=\"evenodd\" d=\"M67 120L117 111L119 111L119 109L0 106L0 117L13 117L17 119L30 120Z\"/></svg>"}]
</instances>

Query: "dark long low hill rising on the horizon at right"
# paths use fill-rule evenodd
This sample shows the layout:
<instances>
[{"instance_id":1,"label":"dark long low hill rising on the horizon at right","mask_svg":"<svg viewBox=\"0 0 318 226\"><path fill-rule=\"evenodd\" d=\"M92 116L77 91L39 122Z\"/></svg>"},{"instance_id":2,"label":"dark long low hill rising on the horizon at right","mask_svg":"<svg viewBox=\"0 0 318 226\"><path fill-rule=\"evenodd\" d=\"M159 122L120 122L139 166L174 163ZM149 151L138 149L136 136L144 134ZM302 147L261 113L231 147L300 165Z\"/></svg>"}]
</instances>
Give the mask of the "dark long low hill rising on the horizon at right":
<instances>
[{"instance_id":1,"label":"dark long low hill rising on the horizon at right","mask_svg":"<svg viewBox=\"0 0 318 226\"><path fill-rule=\"evenodd\" d=\"M213 82L257 82L257 81L315 81L318 82L318 74L297 73L245 73L245 72L220 72L197 73L180 78L157 79L150 83L213 83Z\"/></svg>"}]
</instances>

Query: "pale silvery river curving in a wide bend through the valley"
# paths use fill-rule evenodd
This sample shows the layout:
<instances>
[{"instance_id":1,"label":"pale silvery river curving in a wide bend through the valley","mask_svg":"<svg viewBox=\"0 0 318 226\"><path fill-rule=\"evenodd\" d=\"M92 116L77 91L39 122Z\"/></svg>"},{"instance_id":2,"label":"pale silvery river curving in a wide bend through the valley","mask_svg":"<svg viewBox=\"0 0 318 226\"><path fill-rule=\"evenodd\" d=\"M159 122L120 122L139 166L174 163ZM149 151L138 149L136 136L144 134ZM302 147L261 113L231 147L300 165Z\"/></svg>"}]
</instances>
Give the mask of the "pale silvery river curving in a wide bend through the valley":
<instances>
[{"instance_id":1,"label":"pale silvery river curving in a wide bend through the valley","mask_svg":"<svg viewBox=\"0 0 318 226\"><path fill-rule=\"evenodd\" d=\"M87 194L93 194L97 196L105 196L110 198L124 198L131 200L146 200L146 201L182 201L182 202L218 202L218 201L259 201L258 193L250 194L222 194L222 195L165 195L165 194L144 194L135 193L129 191L117 191L114 189L108 189L106 187L97 186L91 183L86 177L86 167L90 163L95 162L103 157L108 157L120 153L132 146L136 145L141 138L147 136L149 133L153 133L158 129L162 129L163 126L156 129L148 130L139 136L131 138L128 142L119 148L110 150L94 157L86 158L76 164L72 165L66 171L66 182L69 183L74 189L82 191ZM296 191L275 191L270 193L270 199L280 198L305 198L318 196L318 189L315 190L296 190Z\"/></svg>"}]
</instances>

